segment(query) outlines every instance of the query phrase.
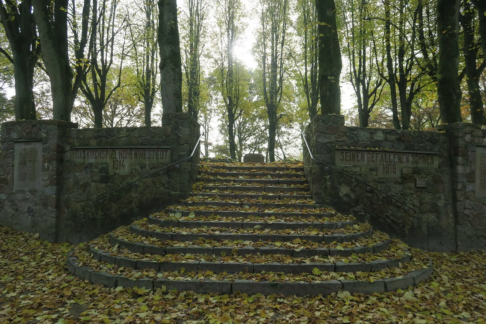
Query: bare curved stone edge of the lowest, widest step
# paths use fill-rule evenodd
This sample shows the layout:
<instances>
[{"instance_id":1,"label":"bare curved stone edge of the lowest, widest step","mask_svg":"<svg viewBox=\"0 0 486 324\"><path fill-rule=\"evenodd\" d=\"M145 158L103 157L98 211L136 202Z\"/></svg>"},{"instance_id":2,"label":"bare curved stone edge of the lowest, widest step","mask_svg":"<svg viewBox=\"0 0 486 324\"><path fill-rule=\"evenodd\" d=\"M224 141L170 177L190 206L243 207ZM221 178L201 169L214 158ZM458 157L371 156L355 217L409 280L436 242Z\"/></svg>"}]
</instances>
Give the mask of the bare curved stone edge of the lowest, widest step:
<instances>
[{"instance_id":1,"label":"bare curved stone edge of the lowest, widest step","mask_svg":"<svg viewBox=\"0 0 486 324\"><path fill-rule=\"evenodd\" d=\"M105 271L95 271L90 267L79 266L78 259L72 256L71 250L66 262L68 271L82 280L88 280L92 284L101 284L105 287L144 287L146 289L162 288L167 290L186 291L192 290L197 293L234 293L240 291L247 294L284 294L284 295L328 295L339 290L347 290L351 293L373 293L383 291L393 291L397 289L407 289L410 286L418 285L422 281L427 281L434 271L432 261L429 267L422 270L412 271L404 276L387 277L384 279L370 281L360 280L329 280L320 282L279 282L279 281L254 281L247 279L233 280L211 280L208 278L192 278L190 280L180 280L175 278L163 277L140 277L129 278L123 274L110 274ZM125 273L124 273L125 274Z\"/></svg>"}]
</instances>

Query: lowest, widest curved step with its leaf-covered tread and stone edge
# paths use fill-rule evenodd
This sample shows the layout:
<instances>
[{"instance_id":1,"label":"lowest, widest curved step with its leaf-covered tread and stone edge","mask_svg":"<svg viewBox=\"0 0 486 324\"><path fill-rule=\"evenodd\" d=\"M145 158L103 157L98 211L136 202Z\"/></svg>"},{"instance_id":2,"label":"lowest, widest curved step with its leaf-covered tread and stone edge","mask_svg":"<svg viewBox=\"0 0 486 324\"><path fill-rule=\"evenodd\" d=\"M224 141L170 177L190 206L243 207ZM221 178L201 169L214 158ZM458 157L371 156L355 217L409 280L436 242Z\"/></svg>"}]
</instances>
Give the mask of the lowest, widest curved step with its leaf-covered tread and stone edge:
<instances>
[{"instance_id":1,"label":"lowest, widest curved step with its leaf-covered tread and stone edge","mask_svg":"<svg viewBox=\"0 0 486 324\"><path fill-rule=\"evenodd\" d=\"M432 262L426 256L414 254L414 262L401 264L374 273L337 273L315 271L312 274L285 273L214 273L212 271L174 271L157 273L153 269L143 271L111 265L89 256L87 249L76 247L69 252L67 267L83 280L106 287L144 287L196 292L241 291L244 293L274 294L329 294L339 290L357 293L372 293L406 289L427 281L433 272ZM201 283L205 283L201 285ZM276 284L277 283L277 284ZM331 286L323 285L330 283ZM332 291L326 287L333 287Z\"/></svg>"}]
</instances>

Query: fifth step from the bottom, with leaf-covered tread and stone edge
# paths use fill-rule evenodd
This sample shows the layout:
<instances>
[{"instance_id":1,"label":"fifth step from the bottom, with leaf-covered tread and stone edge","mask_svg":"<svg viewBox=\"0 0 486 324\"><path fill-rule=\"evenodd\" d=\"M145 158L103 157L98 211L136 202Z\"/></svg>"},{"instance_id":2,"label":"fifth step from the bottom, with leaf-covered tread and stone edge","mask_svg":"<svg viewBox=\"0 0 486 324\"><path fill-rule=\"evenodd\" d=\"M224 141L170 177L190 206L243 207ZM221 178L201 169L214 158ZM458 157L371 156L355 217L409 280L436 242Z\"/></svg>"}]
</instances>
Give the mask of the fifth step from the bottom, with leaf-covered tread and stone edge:
<instances>
[{"instance_id":1,"label":"fifth step from the bottom, with leaf-covered tread and stone edge","mask_svg":"<svg viewBox=\"0 0 486 324\"><path fill-rule=\"evenodd\" d=\"M341 221L338 221L341 220ZM156 224L160 227L226 227L226 228L260 228L260 229L306 229L315 228L318 230L332 229L332 228L345 228L346 226L352 226L355 220L352 216L343 218L333 217L328 218L315 218L315 217L204 217L196 216L194 213L189 216L182 216L181 213L177 214L153 214L149 216L148 222L150 224Z\"/></svg>"}]
</instances>

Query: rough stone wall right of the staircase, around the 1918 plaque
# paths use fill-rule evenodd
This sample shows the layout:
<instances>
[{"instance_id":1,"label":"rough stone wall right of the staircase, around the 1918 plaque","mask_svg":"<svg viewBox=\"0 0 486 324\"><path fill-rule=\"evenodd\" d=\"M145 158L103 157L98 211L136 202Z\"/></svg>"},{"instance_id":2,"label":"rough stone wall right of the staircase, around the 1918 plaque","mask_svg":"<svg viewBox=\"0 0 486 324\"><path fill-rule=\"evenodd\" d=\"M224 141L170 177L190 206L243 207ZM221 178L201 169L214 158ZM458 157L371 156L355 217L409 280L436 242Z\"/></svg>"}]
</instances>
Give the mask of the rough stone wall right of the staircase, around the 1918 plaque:
<instances>
[{"instance_id":1,"label":"rough stone wall right of the staircase, around the 1918 plaque","mask_svg":"<svg viewBox=\"0 0 486 324\"><path fill-rule=\"evenodd\" d=\"M485 198L475 198L476 145L486 144L479 125L451 124L445 132L348 127L344 117L318 115L306 129L314 158L365 181L416 209L408 208L367 185L317 165L304 148L305 172L318 204L352 213L361 221L405 240L411 246L434 250L486 247ZM437 153L438 168L403 168L399 178L378 177L376 166L335 166L336 147L391 149ZM427 187L417 188L416 179Z\"/></svg>"}]
</instances>

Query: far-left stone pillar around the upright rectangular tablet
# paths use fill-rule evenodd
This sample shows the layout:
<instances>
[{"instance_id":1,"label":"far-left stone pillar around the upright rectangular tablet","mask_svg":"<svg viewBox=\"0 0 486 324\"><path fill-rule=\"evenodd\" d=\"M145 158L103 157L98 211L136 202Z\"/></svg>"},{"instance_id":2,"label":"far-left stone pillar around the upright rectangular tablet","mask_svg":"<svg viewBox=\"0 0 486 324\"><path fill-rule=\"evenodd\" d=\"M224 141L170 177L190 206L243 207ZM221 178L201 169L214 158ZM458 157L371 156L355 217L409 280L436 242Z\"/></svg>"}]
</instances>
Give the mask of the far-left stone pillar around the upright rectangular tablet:
<instances>
[{"instance_id":1,"label":"far-left stone pillar around the upright rectangular tablet","mask_svg":"<svg viewBox=\"0 0 486 324\"><path fill-rule=\"evenodd\" d=\"M42 239L56 240L64 139L68 128L77 127L77 123L63 120L11 121L2 124L1 224L23 232L38 233ZM14 147L27 141L42 143L42 161L31 160L28 164L28 168L33 168L36 163L41 164L40 183L30 188L14 188L14 179L18 176L14 174Z\"/></svg>"}]
</instances>

